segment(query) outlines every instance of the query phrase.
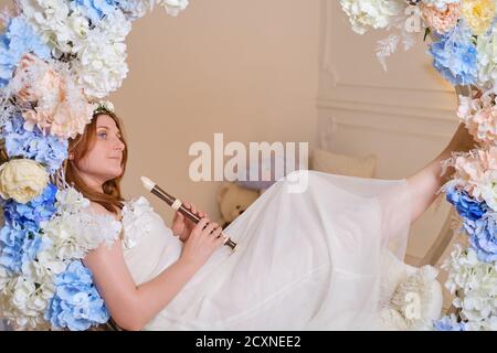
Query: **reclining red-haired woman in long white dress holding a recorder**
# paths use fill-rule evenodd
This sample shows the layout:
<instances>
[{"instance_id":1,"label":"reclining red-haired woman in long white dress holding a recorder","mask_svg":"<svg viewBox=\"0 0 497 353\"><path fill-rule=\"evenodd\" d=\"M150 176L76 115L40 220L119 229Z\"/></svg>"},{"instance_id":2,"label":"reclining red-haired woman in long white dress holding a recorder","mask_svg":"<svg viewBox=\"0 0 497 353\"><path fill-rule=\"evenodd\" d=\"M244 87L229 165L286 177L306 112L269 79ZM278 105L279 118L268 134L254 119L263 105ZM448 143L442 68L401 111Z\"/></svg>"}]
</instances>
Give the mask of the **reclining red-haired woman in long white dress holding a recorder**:
<instances>
[{"instance_id":1,"label":"reclining red-haired woman in long white dress holding a recorder","mask_svg":"<svg viewBox=\"0 0 497 353\"><path fill-rule=\"evenodd\" d=\"M410 224L446 181L440 162L472 145L459 126L443 152L406 180L309 172L302 193L289 193L289 179L282 180L224 229L240 244L234 253L193 205L201 222L177 213L169 229L145 197L123 200L127 146L110 111L96 114L70 142L66 180L94 212L123 223L119 238L84 261L125 330L374 329L393 290L385 290L385 259L402 258Z\"/></svg>"}]
</instances>

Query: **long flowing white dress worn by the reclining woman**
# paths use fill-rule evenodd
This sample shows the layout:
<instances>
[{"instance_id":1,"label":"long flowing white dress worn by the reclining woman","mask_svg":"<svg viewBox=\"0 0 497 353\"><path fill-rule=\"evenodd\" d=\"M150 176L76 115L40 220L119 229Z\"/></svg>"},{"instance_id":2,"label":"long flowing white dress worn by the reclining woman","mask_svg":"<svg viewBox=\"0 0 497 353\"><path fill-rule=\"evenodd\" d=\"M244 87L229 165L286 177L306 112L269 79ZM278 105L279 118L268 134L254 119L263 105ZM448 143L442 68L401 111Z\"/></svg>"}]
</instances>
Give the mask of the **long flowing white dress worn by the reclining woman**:
<instances>
[{"instance_id":1,"label":"long flowing white dress worn by the reclining woman","mask_svg":"<svg viewBox=\"0 0 497 353\"><path fill-rule=\"evenodd\" d=\"M305 192L292 192L305 181ZM294 172L225 229L239 249L216 250L145 329L426 328L441 309L438 297L433 306L436 274L399 260L409 200L404 180ZM125 260L137 285L179 258L182 243L145 197L126 204L123 225ZM405 288L421 296L421 317L405 318L399 303Z\"/></svg>"}]
</instances>

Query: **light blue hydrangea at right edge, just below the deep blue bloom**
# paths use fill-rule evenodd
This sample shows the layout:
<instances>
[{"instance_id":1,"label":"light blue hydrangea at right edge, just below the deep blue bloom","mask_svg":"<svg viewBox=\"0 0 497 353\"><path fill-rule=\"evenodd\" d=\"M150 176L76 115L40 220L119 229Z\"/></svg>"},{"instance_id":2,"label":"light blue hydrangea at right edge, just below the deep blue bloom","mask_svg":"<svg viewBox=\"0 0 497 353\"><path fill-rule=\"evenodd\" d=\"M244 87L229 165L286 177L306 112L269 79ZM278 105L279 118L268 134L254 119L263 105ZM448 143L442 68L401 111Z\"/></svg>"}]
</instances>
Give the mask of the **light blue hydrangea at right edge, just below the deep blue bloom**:
<instances>
[{"instance_id":1,"label":"light blue hydrangea at right edge, just below the deep blue bloom","mask_svg":"<svg viewBox=\"0 0 497 353\"><path fill-rule=\"evenodd\" d=\"M497 260L497 223L493 214L487 214L477 221L465 220L464 228L469 235L469 243L485 263Z\"/></svg>"}]
</instances>

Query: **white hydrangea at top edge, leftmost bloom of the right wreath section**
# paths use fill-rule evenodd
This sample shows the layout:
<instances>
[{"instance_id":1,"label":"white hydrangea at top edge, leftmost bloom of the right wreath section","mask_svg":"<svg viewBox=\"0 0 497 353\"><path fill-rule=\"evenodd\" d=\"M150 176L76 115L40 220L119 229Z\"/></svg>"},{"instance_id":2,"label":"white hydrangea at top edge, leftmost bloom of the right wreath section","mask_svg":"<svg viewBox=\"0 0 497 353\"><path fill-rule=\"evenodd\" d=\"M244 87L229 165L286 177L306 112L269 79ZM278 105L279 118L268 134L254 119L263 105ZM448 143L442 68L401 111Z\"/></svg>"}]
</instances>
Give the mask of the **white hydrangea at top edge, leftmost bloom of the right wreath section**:
<instances>
[{"instance_id":1,"label":"white hydrangea at top edge, leftmost bloom of the right wreath section","mask_svg":"<svg viewBox=\"0 0 497 353\"><path fill-rule=\"evenodd\" d=\"M404 0L340 0L340 4L359 34L364 34L368 28L389 26L408 7Z\"/></svg>"}]
</instances>

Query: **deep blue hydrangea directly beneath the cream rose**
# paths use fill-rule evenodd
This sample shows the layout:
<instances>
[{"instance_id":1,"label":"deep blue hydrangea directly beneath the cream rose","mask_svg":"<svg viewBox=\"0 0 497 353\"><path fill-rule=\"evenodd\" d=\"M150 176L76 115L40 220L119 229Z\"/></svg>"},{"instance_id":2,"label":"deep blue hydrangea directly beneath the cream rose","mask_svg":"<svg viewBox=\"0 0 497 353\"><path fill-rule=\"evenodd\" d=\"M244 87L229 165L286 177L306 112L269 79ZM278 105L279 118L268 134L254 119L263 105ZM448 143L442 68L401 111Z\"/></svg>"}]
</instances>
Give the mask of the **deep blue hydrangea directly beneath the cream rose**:
<instances>
[{"instance_id":1,"label":"deep blue hydrangea directly beneath the cream rose","mask_svg":"<svg viewBox=\"0 0 497 353\"><path fill-rule=\"evenodd\" d=\"M9 223L25 224L31 222L36 226L43 221L49 221L55 213L55 195L57 186L49 183L42 194L23 204L10 199L0 203L3 207L4 218Z\"/></svg>"}]
</instances>

